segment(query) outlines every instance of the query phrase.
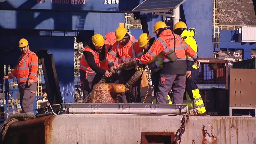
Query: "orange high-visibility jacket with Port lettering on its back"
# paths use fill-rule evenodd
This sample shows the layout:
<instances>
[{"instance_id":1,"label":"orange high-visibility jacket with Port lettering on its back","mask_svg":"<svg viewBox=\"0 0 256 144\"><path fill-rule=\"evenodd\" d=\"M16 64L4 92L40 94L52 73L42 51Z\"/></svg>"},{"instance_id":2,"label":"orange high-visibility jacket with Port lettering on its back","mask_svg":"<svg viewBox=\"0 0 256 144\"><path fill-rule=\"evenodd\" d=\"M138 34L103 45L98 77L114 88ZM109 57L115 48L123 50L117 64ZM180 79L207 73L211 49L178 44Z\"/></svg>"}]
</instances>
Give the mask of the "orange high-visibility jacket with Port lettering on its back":
<instances>
[{"instance_id":1,"label":"orange high-visibility jacket with Port lettering on its back","mask_svg":"<svg viewBox=\"0 0 256 144\"><path fill-rule=\"evenodd\" d=\"M178 59L172 62L165 56L165 54L169 51L174 51L174 35L176 39L175 53ZM198 59L196 52L188 44L186 44L186 42L184 42L180 36L173 34L171 30L167 29L167 30L164 30L159 35L159 38L156 39L155 43L151 46L148 52L140 58L138 65L148 63L150 60L154 59L161 52L164 54L163 68L164 68L164 63L165 64L169 63L169 64L166 64L166 66L171 65L169 69L173 71L173 73L171 72L169 74L183 74L184 69L186 73L186 68L185 67L183 68L183 64L186 65L186 54L188 54L194 60ZM182 64L182 66L180 64ZM175 69L179 69L179 67L182 67L182 69L180 69L181 72L175 70ZM165 70L162 70L162 71L165 71Z\"/></svg>"}]
</instances>

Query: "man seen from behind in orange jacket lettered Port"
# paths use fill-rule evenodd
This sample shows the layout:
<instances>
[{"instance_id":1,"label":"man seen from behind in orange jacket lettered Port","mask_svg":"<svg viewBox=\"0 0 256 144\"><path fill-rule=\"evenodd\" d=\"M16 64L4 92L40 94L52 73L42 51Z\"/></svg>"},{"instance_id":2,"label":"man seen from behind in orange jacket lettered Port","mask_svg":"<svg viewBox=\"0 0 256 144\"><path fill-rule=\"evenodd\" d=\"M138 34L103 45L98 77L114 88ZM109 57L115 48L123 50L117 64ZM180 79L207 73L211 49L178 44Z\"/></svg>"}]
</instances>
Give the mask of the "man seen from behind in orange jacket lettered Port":
<instances>
[{"instance_id":1,"label":"man seen from behind in orange jacket lettered Port","mask_svg":"<svg viewBox=\"0 0 256 144\"><path fill-rule=\"evenodd\" d=\"M180 36L167 29L166 24L162 21L154 25L154 33L157 37L155 43L140 58L136 67L148 63L162 52L164 54L163 68L160 72L156 103L166 103L166 96L172 88L174 103L182 104L187 71L186 54L194 59L196 65L199 66L197 54Z\"/></svg>"}]
</instances>

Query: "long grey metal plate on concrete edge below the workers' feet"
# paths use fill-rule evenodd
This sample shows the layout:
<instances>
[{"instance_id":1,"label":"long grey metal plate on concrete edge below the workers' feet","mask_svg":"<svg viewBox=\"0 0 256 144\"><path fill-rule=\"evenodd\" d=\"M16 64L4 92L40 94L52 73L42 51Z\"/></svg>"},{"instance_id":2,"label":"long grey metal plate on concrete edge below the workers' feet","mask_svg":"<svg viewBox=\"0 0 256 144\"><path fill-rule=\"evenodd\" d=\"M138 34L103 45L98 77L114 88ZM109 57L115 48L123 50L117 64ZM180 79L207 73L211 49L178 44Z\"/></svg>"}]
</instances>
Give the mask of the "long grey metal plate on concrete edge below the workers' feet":
<instances>
[{"instance_id":1,"label":"long grey metal plate on concrete edge below the workers' feet","mask_svg":"<svg viewBox=\"0 0 256 144\"><path fill-rule=\"evenodd\" d=\"M67 114L92 114L92 113L129 113L129 114L185 114L187 105L179 104L141 104L141 103L70 103L62 104L62 110Z\"/></svg>"}]
</instances>

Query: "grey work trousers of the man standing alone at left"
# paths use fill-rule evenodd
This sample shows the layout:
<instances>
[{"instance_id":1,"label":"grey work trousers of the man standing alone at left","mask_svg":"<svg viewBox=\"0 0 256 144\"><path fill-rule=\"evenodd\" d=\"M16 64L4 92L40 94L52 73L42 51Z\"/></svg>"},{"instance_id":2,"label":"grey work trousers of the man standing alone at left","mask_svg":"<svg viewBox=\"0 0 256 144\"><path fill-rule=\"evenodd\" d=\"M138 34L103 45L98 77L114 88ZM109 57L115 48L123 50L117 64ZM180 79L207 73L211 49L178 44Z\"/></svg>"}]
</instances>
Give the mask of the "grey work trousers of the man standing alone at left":
<instances>
[{"instance_id":1,"label":"grey work trousers of the man standing alone at left","mask_svg":"<svg viewBox=\"0 0 256 144\"><path fill-rule=\"evenodd\" d=\"M18 86L21 109L26 114L34 114L33 104L36 97L37 82L33 82L31 86L28 86L28 82L19 83Z\"/></svg>"}]
</instances>

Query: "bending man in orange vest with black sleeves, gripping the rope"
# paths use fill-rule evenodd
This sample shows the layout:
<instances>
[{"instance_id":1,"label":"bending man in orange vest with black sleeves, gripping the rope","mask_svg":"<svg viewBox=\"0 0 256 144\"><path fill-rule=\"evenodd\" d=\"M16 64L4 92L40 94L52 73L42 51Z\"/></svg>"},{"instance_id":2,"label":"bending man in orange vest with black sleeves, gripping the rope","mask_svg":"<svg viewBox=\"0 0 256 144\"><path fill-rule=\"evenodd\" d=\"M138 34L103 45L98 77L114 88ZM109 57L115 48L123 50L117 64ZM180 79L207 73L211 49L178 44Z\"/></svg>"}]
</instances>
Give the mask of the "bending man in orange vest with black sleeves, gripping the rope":
<instances>
[{"instance_id":1,"label":"bending man in orange vest with black sleeves, gripping the rope","mask_svg":"<svg viewBox=\"0 0 256 144\"><path fill-rule=\"evenodd\" d=\"M106 43L105 43L106 42ZM100 34L92 36L91 42L83 50L80 59L80 80L83 90L83 99L91 92L93 86L97 84L102 76L110 77L108 71L108 41L104 40Z\"/></svg>"}]
</instances>

